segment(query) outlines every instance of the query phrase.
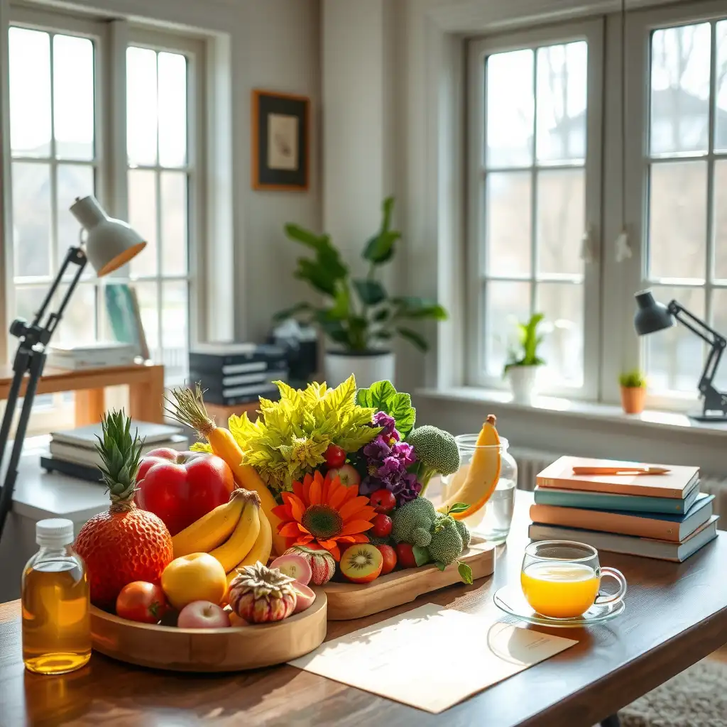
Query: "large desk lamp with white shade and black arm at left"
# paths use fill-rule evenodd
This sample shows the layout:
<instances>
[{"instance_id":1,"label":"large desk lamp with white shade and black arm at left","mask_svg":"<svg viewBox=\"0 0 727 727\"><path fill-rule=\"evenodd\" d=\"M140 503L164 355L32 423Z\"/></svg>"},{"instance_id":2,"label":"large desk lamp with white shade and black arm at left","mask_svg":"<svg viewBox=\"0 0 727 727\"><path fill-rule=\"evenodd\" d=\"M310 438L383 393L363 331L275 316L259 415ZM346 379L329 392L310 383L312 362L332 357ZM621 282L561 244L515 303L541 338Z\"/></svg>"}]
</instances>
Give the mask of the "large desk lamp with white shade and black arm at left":
<instances>
[{"instance_id":1,"label":"large desk lamp with white shade and black arm at left","mask_svg":"<svg viewBox=\"0 0 727 727\"><path fill-rule=\"evenodd\" d=\"M20 395L20 386L26 373L28 379L25 386L25 395L23 396L23 408L20 410L20 419L17 422L15 441L10 454L5 481L0 492L0 538L5 525L5 518L7 518L7 513L10 512L12 507L12 492L15 489L15 479L17 478L17 463L23 449L23 439L25 439L25 430L28 428L28 419L31 416L33 398L36 395L38 382L43 373L46 361L46 347L56 326L63 317L65 306L68 304L73 289L76 288L76 284L81 278L86 263L90 262L94 270L96 270L97 276L102 277L129 262L146 246L144 239L139 233L132 230L126 222L109 217L93 195L83 199L76 198L76 202L71 206L71 213L81 223L81 244L68 248L63 265L60 266L60 270L58 270L53 284L41 303L40 310L33 318L33 322L28 323L23 321L22 318L17 318L10 324L10 334L19 339L20 344L17 347L15 360L12 364L12 384L10 385L7 406L0 426L0 465L2 465L5 449L7 449L10 425L15 414L17 398ZM85 241L82 239L84 230L87 231ZM55 294L63 280L63 276L71 265L77 267L71 282L68 284L68 290L65 292L63 300L61 300L57 312L49 313L46 318L46 311L52 301L53 294Z\"/></svg>"}]
</instances>

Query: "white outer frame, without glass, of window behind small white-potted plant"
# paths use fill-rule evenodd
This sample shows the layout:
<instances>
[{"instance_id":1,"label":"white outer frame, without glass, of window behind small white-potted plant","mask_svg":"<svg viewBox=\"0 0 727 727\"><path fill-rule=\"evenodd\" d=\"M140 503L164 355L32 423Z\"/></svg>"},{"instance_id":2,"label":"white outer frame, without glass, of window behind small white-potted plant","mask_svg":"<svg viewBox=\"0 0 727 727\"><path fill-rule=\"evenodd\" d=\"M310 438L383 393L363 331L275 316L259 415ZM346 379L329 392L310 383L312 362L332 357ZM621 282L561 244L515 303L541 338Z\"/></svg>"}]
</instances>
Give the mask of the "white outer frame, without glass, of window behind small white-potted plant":
<instances>
[{"instance_id":1,"label":"white outer frame, without glass, of window behind small white-potted plant","mask_svg":"<svg viewBox=\"0 0 727 727\"><path fill-rule=\"evenodd\" d=\"M600 283L601 263L601 139L603 126L603 34L602 18L572 23L560 23L527 31L503 33L485 39L471 39L467 48L468 76L468 145L467 145L467 306L466 306L466 383L467 385L503 389L507 384L502 377L486 374L481 367L481 349L486 331L484 305L481 300L484 249L484 201L481 180L486 135L485 63L494 53L545 45L585 40L588 44L587 116L585 172L585 250L589 259L583 266L583 385L581 387L550 387L543 393L566 395L569 398L595 399L598 397L600 372ZM535 72L535 71L534 71ZM538 168L534 164L523 170ZM547 165L543 165L547 168ZM533 196L536 191L533 190ZM533 220L533 225L537 224ZM532 279L537 271L532 271ZM534 294L534 292L533 292Z\"/></svg>"}]
</instances>

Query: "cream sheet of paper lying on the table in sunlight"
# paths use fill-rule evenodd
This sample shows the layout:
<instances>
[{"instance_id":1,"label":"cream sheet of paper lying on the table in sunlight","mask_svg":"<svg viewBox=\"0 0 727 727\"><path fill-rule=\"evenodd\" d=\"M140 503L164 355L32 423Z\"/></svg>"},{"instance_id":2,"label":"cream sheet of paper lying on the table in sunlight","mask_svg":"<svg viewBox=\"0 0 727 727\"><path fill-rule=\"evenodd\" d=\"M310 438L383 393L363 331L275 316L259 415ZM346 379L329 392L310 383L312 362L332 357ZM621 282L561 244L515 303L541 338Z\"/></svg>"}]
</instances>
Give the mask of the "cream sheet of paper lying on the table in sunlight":
<instances>
[{"instance_id":1,"label":"cream sheet of paper lying on the table in sunlight","mask_svg":"<svg viewBox=\"0 0 727 727\"><path fill-rule=\"evenodd\" d=\"M575 643L427 603L289 663L437 714Z\"/></svg>"}]
</instances>

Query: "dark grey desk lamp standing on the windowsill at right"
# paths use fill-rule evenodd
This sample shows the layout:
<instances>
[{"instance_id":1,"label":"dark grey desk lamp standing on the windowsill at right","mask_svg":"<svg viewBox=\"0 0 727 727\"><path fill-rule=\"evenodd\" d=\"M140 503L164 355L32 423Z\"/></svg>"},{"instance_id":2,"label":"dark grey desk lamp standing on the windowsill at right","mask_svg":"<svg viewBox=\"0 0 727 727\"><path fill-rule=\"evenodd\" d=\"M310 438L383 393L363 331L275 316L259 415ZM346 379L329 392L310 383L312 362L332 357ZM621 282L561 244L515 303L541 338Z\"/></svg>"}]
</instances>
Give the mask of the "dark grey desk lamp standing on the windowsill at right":
<instances>
[{"instance_id":1,"label":"dark grey desk lamp standing on the windowsill at right","mask_svg":"<svg viewBox=\"0 0 727 727\"><path fill-rule=\"evenodd\" d=\"M720 393L712 385L727 340L675 300L669 305L656 302L650 290L643 290L635 297L638 308L634 316L634 328L639 336L670 328L676 319L710 345L702 378L699 379L699 393L704 400L704 409L702 414L691 418L697 422L727 422L727 394Z\"/></svg>"}]
</instances>

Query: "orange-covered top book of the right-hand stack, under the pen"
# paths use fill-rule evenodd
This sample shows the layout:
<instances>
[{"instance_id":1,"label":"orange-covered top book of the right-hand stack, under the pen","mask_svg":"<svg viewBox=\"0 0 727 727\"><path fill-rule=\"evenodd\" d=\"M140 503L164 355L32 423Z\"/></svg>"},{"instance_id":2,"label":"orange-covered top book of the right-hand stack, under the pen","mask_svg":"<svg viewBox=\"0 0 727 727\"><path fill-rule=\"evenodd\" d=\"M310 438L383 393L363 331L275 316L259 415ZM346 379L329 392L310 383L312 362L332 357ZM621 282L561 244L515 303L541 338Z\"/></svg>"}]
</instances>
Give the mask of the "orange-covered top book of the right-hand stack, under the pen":
<instances>
[{"instance_id":1,"label":"orange-covered top book of the right-hand stack, under the pen","mask_svg":"<svg viewBox=\"0 0 727 727\"><path fill-rule=\"evenodd\" d=\"M665 475L574 475L574 467L669 467ZM699 478L699 467L624 462L619 459L561 457L537 475L540 487L615 492L622 495L683 498Z\"/></svg>"}]
</instances>

